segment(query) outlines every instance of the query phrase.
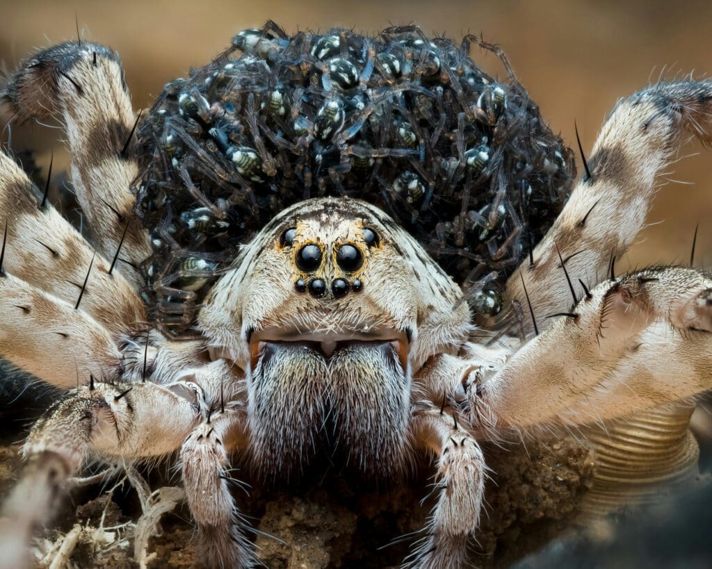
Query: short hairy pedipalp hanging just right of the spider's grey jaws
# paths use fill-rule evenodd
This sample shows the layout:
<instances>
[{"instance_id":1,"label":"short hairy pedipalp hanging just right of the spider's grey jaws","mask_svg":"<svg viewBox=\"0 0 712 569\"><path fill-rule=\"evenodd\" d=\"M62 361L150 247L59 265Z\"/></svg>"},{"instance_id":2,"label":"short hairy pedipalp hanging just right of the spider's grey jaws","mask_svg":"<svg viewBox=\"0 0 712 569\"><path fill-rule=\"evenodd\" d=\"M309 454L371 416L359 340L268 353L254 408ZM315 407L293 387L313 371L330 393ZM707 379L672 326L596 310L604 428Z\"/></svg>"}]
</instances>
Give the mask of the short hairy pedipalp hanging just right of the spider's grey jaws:
<instances>
[{"instance_id":1,"label":"short hairy pedipalp hanging just right of the spider's grey jaws","mask_svg":"<svg viewBox=\"0 0 712 569\"><path fill-rule=\"evenodd\" d=\"M426 403L414 417L415 439L437 457L434 494L439 496L424 528L426 536L405 565L417 568L467 566L467 543L479 524L486 465L475 438L450 410Z\"/></svg>"}]
</instances>

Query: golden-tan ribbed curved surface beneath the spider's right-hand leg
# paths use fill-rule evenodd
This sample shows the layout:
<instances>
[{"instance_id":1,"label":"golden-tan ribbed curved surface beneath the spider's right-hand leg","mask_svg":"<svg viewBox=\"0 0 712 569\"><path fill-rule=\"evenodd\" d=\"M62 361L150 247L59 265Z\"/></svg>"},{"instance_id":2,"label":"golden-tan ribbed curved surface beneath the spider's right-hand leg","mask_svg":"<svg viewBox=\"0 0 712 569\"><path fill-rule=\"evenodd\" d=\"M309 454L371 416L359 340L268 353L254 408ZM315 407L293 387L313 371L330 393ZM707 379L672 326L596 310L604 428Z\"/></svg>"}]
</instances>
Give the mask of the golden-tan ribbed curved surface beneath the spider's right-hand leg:
<instances>
[{"instance_id":1,"label":"golden-tan ribbed curved surface beneath the spider's right-hand leg","mask_svg":"<svg viewBox=\"0 0 712 569\"><path fill-rule=\"evenodd\" d=\"M689 430L694 405L679 403L586 431L596 451L592 489L584 518L655 501L690 484L698 474L699 447Z\"/></svg>"}]
</instances>

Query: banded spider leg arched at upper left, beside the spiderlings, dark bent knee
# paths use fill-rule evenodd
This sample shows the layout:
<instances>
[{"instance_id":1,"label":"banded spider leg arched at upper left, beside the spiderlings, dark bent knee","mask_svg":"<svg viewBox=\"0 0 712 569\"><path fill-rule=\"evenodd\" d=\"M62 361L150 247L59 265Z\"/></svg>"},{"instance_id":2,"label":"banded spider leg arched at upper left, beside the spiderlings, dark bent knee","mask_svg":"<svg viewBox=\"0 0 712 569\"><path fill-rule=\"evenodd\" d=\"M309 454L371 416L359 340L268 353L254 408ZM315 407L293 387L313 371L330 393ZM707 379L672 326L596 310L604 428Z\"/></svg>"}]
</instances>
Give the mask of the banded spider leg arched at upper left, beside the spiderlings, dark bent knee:
<instances>
[{"instance_id":1,"label":"banded spider leg arched at upper left, beside the spiderlings, dark bent knee","mask_svg":"<svg viewBox=\"0 0 712 569\"><path fill-rule=\"evenodd\" d=\"M118 55L95 43L66 42L37 53L11 77L4 99L21 120L56 115L66 130L74 191L93 242L105 257L134 265L149 253L145 230L133 216L130 155L135 125ZM140 275L127 262L117 270L133 285Z\"/></svg>"}]
</instances>

